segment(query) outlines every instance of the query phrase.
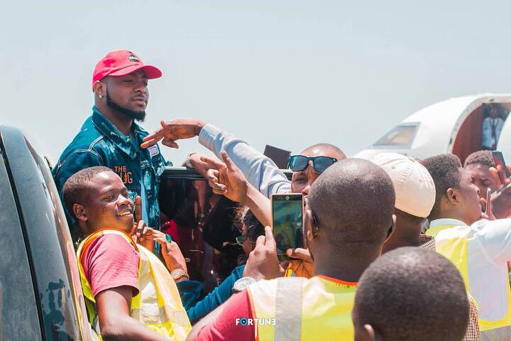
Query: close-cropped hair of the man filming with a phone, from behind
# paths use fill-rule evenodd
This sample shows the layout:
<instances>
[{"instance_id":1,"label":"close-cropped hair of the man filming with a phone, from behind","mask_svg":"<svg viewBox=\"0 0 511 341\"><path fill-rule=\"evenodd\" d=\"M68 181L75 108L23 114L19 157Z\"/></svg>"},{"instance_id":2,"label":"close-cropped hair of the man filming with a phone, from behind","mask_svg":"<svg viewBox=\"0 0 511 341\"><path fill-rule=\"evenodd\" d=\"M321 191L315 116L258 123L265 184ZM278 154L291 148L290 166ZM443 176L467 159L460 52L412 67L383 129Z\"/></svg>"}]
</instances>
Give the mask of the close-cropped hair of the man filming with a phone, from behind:
<instances>
[{"instance_id":1,"label":"close-cropped hair of the man filming with a phone, from behind","mask_svg":"<svg viewBox=\"0 0 511 341\"><path fill-rule=\"evenodd\" d=\"M395 192L387 172L360 158L346 158L312 184L308 205L319 231L336 247L383 244L392 224Z\"/></svg>"}]
</instances>

